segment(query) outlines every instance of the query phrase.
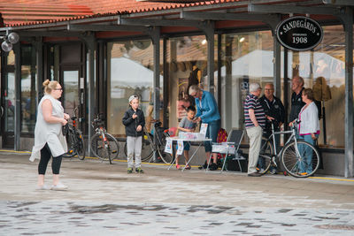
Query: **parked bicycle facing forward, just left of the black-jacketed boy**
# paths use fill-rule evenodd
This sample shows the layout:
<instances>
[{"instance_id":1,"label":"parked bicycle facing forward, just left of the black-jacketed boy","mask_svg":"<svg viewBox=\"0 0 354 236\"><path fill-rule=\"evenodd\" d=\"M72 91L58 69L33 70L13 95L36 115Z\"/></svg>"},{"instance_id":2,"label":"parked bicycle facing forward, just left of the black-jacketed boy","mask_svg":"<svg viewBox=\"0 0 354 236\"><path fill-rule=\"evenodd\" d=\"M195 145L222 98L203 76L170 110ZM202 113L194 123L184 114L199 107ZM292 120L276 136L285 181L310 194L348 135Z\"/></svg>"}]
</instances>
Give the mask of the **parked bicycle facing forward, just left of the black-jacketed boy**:
<instances>
[{"instance_id":1,"label":"parked bicycle facing forward, just left of the black-jacketed boy","mask_svg":"<svg viewBox=\"0 0 354 236\"><path fill-rule=\"evenodd\" d=\"M91 126L95 129L95 134L91 137L90 149L92 154L102 161L110 161L116 159L119 154L118 141L111 133L107 133L104 128L103 114L97 114L96 118L92 121Z\"/></svg>"}]
</instances>

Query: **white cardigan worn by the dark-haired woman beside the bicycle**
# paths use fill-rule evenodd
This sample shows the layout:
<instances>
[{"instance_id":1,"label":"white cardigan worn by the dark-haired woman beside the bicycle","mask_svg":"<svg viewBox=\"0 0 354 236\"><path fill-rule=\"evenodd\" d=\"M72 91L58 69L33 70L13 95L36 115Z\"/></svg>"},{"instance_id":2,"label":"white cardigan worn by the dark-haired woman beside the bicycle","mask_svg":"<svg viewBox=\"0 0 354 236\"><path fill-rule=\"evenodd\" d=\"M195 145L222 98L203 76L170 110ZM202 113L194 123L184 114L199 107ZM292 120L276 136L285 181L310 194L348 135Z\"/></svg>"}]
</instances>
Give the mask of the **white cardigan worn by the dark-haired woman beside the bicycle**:
<instances>
[{"instance_id":1,"label":"white cardigan worn by the dark-haired woman beside the bicycle","mask_svg":"<svg viewBox=\"0 0 354 236\"><path fill-rule=\"evenodd\" d=\"M319 110L314 102L310 103L306 108L305 106L300 110L298 125L299 134L309 134L319 132Z\"/></svg>"}]
</instances>

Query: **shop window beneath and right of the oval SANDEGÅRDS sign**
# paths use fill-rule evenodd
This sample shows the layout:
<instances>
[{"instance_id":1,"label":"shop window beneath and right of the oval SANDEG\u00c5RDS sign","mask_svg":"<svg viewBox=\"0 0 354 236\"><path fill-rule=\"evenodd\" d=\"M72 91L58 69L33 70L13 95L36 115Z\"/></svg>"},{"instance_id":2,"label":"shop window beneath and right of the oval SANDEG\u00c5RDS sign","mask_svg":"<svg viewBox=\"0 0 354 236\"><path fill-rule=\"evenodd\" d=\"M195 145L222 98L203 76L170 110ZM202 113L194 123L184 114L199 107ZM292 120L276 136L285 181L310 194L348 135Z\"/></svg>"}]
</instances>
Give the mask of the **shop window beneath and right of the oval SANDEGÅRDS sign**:
<instances>
[{"instance_id":1,"label":"shop window beneath and right of the oval SANDEG\u00c5RDS sign","mask_svg":"<svg viewBox=\"0 0 354 236\"><path fill-rule=\"evenodd\" d=\"M319 144L327 148L343 148L345 36L342 26L323 27L323 32L322 42L312 51L289 51L288 77L289 80L295 75L304 78L304 87L312 88L315 99L320 102ZM289 91L290 98L290 83Z\"/></svg>"}]
</instances>

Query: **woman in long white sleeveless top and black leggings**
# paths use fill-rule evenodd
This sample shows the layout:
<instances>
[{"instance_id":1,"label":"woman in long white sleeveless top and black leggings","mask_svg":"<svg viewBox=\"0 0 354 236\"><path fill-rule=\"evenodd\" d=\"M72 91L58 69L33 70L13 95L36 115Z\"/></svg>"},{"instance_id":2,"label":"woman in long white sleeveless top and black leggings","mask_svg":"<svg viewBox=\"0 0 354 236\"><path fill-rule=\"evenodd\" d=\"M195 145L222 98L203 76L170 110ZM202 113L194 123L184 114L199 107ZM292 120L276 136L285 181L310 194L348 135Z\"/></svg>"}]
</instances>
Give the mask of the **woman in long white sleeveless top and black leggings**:
<instances>
[{"instance_id":1,"label":"woman in long white sleeveless top and black leggings","mask_svg":"<svg viewBox=\"0 0 354 236\"><path fill-rule=\"evenodd\" d=\"M45 80L43 82L45 95L38 104L37 122L35 124L35 146L29 160L40 159L38 164L39 190L48 189L44 185L44 175L52 156L51 169L53 172L52 190L65 190L67 186L59 182L59 171L62 155L67 151L65 136L62 126L65 126L68 114L64 113L61 103L58 101L63 93L58 81Z\"/></svg>"}]
</instances>

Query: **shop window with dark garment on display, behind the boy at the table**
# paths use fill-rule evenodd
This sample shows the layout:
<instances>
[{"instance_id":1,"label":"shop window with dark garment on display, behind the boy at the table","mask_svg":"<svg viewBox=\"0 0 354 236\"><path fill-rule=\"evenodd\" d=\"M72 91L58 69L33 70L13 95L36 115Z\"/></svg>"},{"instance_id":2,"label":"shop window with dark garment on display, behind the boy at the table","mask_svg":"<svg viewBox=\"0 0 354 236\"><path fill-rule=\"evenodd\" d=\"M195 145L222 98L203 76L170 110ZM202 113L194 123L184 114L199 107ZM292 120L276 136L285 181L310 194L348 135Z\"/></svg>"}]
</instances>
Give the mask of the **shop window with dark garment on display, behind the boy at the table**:
<instances>
[{"instance_id":1,"label":"shop window with dark garment on display, behind the boy at the table","mask_svg":"<svg viewBox=\"0 0 354 236\"><path fill-rule=\"evenodd\" d=\"M217 57L215 53L215 57ZM201 88L208 87L207 42L204 35L184 36L167 41L168 112L169 126L178 126L186 116L186 108L193 103L188 93L189 81L194 80ZM215 65L215 70L217 66ZM193 77L189 80L190 77ZM215 73L217 77L217 72Z\"/></svg>"}]
</instances>

